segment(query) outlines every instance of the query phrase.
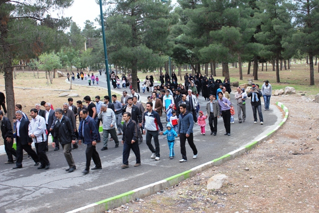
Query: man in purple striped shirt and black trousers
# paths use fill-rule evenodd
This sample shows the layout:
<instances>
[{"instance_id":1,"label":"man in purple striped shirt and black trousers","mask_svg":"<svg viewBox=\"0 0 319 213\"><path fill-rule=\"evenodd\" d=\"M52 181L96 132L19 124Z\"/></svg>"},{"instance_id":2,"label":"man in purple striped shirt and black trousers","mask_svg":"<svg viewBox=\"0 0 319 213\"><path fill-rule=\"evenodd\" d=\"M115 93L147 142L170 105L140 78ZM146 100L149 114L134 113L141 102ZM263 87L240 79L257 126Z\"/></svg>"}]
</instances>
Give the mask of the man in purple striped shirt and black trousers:
<instances>
[{"instance_id":1,"label":"man in purple striped shirt and black trousers","mask_svg":"<svg viewBox=\"0 0 319 213\"><path fill-rule=\"evenodd\" d=\"M223 97L222 92L218 92L218 105L220 108L220 113L221 116L223 117L224 120L224 126L226 133L224 135L230 136L230 106L231 102Z\"/></svg>"}]
</instances>

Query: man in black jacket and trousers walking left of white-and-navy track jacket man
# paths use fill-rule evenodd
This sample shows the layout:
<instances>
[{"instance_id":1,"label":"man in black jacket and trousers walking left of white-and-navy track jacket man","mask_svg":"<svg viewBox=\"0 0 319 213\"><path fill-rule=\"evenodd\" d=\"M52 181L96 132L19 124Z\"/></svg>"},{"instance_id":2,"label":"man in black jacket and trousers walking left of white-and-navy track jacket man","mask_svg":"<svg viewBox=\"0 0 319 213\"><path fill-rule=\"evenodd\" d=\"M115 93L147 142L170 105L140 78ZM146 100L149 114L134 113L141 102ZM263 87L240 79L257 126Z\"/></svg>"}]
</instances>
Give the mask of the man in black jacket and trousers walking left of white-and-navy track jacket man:
<instances>
[{"instance_id":1,"label":"man in black jacket and trousers walking left of white-and-navy track jacket man","mask_svg":"<svg viewBox=\"0 0 319 213\"><path fill-rule=\"evenodd\" d=\"M136 157L135 167L141 166L141 155L138 143L138 125L131 119L131 113L125 112L123 114L124 125L123 125L123 165L122 169L129 167L129 156L131 149L133 150Z\"/></svg>"}]
</instances>

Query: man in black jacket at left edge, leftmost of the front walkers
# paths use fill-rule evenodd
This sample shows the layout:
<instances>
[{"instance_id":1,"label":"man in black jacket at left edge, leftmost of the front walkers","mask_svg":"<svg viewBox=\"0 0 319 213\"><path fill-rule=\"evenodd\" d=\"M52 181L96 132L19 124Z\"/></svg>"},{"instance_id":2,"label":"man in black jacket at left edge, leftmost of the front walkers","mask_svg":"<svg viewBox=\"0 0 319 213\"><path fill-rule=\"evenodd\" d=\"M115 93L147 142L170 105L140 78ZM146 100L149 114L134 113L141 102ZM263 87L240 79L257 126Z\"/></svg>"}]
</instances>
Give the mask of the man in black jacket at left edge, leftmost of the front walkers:
<instances>
[{"instance_id":1,"label":"man in black jacket at left edge, leftmost of the front walkers","mask_svg":"<svg viewBox=\"0 0 319 213\"><path fill-rule=\"evenodd\" d=\"M11 127L11 122L8 118L3 116L3 112L0 110L0 121L1 121L1 133L4 141L4 150L8 156L8 161L4 164L13 164L13 157L16 157L16 152L12 148L13 145L13 131Z\"/></svg>"}]
</instances>

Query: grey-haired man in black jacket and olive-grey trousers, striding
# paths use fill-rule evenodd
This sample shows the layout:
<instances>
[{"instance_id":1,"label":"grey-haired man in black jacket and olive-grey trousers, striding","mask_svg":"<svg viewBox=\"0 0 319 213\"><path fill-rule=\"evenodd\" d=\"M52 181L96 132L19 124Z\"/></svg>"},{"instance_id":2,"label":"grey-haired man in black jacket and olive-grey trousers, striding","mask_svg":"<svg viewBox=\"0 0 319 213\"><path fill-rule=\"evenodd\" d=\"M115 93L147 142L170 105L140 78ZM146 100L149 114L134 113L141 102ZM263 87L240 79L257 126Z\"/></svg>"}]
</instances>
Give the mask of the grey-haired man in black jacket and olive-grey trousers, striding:
<instances>
[{"instance_id":1,"label":"grey-haired man in black jacket and olive-grey trousers, striding","mask_svg":"<svg viewBox=\"0 0 319 213\"><path fill-rule=\"evenodd\" d=\"M54 137L53 137L53 146L57 141L60 142L62 149L63 149L63 154L66 159L66 162L69 165L69 168L66 169L65 171L68 172L73 172L76 167L75 163L71 154L71 143L75 144L75 132L74 132L74 127L71 122L71 120L62 114L63 110L61 108L56 108L55 109L55 117L56 122L54 126Z\"/></svg>"}]
</instances>

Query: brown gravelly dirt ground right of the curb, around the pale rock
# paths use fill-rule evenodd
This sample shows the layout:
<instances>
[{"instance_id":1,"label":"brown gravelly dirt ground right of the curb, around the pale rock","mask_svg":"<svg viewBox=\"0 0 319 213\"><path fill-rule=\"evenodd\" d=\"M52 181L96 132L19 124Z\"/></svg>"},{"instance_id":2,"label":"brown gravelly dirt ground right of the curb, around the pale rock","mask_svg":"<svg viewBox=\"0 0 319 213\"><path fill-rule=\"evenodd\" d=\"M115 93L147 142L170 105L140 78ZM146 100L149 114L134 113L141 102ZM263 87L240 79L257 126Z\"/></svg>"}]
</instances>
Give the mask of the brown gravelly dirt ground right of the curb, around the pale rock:
<instances>
[{"instance_id":1,"label":"brown gravelly dirt ground right of the curb, around the pale rock","mask_svg":"<svg viewBox=\"0 0 319 213\"><path fill-rule=\"evenodd\" d=\"M272 96L271 103L276 101L284 103L290 114L269 141L155 195L107 212L318 213L319 104L300 95ZM208 179L219 173L228 176L228 184L220 190L206 190Z\"/></svg>"}]
</instances>

